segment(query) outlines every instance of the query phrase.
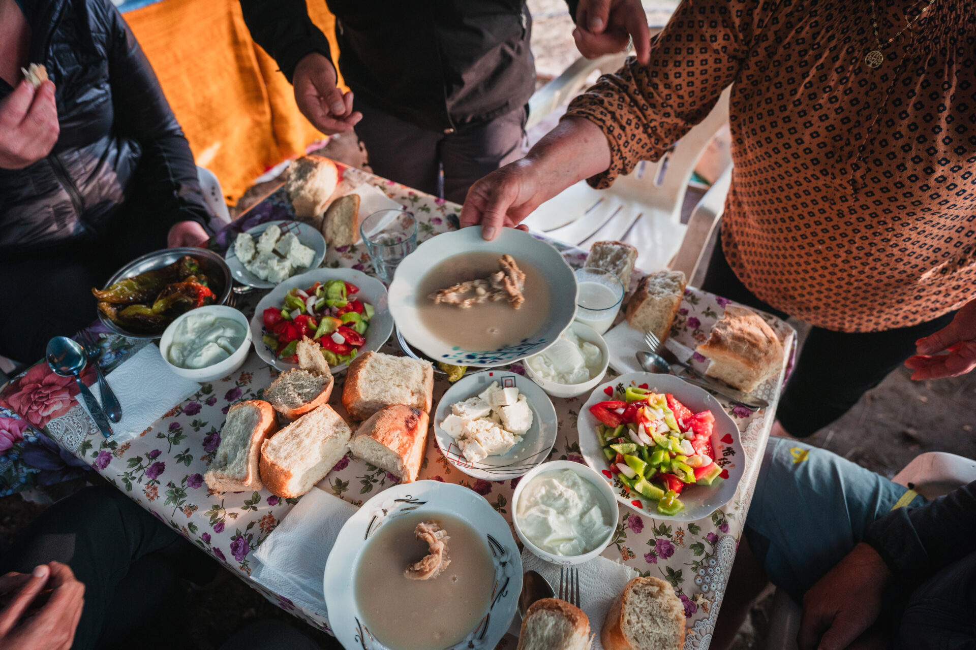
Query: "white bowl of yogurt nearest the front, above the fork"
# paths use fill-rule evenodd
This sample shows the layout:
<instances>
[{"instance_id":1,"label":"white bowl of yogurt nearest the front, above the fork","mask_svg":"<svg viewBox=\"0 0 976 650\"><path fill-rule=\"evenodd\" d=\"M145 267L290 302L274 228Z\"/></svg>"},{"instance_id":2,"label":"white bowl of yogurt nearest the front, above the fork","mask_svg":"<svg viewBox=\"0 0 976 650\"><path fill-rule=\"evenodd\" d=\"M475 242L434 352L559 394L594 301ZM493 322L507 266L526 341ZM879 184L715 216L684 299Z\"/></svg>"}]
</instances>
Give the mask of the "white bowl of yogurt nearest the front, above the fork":
<instances>
[{"instance_id":1,"label":"white bowl of yogurt nearest the front, above the fork","mask_svg":"<svg viewBox=\"0 0 976 650\"><path fill-rule=\"evenodd\" d=\"M568 460L543 463L522 477L511 503L518 539L553 564L582 564L603 553L620 515L609 483Z\"/></svg>"}]
</instances>

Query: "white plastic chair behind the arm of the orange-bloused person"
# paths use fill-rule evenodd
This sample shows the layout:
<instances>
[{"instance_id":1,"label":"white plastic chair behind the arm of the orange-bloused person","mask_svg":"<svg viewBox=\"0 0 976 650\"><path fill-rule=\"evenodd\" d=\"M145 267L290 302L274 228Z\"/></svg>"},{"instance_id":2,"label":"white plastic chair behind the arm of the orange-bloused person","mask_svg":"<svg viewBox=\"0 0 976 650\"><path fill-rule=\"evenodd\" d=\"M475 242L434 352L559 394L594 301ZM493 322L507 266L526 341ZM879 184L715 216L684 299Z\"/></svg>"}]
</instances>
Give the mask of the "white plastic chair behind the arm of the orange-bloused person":
<instances>
[{"instance_id":1,"label":"white plastic chair behind the arm of the orange-bloused person","mask_svg":"<svg viewBox=\"0 0 976 650\"><path fill-rule=\"evenodd\" d=\"M529 99L529 126L538 123L549 112L579 93L594 70L615 70L623 65L627 55L608 55L594 60L581 58L553 79ZM700 124L682 137L656 163L642 162L626 176L617 179L612 187L594 190L581 181L553 197L524 221L532 230L547 236L590 249L593 242L617 240L627 242L639 251L636 265L645 271L668 266L682 245L688 226L681 223L681 205L695 164L708 146L712 135L728 120L726 89L712 112ZM716 182L709 206L712 225L694 229L688 241L684 260L696 261L708 242L700 239L703 231L712 232L715 219L721 213L728 182ZM717 206L715 208L714 206ZM701 221L701 219L699 219ZM675 260L677 261L677 260ZM693 270L682 261L681 270Z\"/></svg>"}]
</instances>

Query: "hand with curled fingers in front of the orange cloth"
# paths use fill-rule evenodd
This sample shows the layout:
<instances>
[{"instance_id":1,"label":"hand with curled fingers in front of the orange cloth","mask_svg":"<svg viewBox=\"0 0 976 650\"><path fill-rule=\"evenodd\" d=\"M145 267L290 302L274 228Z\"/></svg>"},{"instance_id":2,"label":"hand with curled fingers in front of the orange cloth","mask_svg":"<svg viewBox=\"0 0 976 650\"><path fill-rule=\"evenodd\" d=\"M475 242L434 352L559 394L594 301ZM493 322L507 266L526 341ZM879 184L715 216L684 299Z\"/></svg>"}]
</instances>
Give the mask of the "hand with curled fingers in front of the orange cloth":
<instances>
[{"instance_id":1,"label":"hand with curled fingers in front of the orange cloth","mask_svg":"<svg viewBox=\"0 0 976 650\"><path fill-rule=\"evenodd\" d=\"M323 134L352 131L363 114L352 111L352 93L336 86L336 68L328 58L317 52L305 55L295 66L292 85L295 103L308 121Z\"/></svg>"}]
</instances>

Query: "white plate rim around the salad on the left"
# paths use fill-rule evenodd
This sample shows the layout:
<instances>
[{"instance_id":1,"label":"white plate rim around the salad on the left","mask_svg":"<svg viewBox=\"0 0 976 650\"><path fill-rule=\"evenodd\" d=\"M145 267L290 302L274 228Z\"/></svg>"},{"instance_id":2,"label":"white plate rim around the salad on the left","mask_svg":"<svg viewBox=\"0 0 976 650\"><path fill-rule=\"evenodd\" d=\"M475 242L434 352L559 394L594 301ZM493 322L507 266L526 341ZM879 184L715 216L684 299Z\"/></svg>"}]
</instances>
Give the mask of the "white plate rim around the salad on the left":
<instances>
[{"instance_id":1,"label":"white plate rim around the salad on the left","mask_svg":"<svg viewBox=\"0 0 976 650\"><path fill-rule=\"evenodd\" d=\"M393 332L393 317L389 314L389 305L386 298L386 287L376 278L370 278L365 273L354 269L315 269L299 276L292 276L261 299L258 308L251 319L251 337L254 339L254 349L264 363L273 365L279 370L290 370L298 367L297 363L285 363L277 358L274 351L267 347L262 340L262 336L267 332L264 330L264 310L268 307L281 308L285 299L285 294L294 287L308 288L317 282L325 284L330 280L342 280L350 285L359 287L357 297L363 302L373 305L373 320L369 323L366 330L366 344L359 349L359 354L369 351L376 351L383 347L389 335ZM348 363L332 366L332 372L345 370Z\"/></svg>"}]
</instances>

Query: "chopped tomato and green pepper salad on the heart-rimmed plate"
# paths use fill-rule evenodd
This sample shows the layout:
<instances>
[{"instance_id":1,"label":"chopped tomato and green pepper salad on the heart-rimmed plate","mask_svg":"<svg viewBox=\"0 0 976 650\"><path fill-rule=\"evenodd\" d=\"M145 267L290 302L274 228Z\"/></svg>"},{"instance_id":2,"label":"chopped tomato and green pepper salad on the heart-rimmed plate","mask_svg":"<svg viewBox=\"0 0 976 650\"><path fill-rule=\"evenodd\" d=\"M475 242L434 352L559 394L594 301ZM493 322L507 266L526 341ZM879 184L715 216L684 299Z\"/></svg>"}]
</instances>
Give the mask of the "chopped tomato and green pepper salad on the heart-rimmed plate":
<instances>
[{"instance_id":1,"label":"chopped tomato and green pepper salad on the heart-rimmed plate","mask_svg":"<svg viewBox=\"0 0 976 650\"><path fill-rule=\"evenodd\" d=\"M636 386L621 397L590 406L600 421L596 433L610 476L631 494L657 501L662 515L676 515L684 510L678 495L685 485L712 485L721 478L712 449L712 411L692 413L671 393Z\"/></svg>"}]
</instances>

